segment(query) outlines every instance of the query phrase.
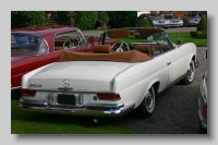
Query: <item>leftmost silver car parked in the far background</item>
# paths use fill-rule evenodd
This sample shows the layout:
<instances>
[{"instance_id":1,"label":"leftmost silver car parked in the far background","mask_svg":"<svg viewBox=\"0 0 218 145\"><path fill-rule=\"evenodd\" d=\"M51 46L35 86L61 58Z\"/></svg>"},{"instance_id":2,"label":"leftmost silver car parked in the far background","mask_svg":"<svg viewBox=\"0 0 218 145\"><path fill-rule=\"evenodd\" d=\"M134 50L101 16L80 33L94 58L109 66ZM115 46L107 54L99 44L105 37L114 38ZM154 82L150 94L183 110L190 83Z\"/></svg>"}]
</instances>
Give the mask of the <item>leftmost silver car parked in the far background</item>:
<instances>
[{"instance_id":1,"label":"leftmost silver car parked in the far background","mask_svg":"<svg viewBox=\"0 0 218 145\"><path fill-rule=\"evenodd\" d=\"M154 27L165 27L165 28L170 27L170 21L164 19L160 14L143 13L137 17L137 23L142 19L147 19L149 21L150 25L154 26Z\"/></svg>"}]
</instances>

